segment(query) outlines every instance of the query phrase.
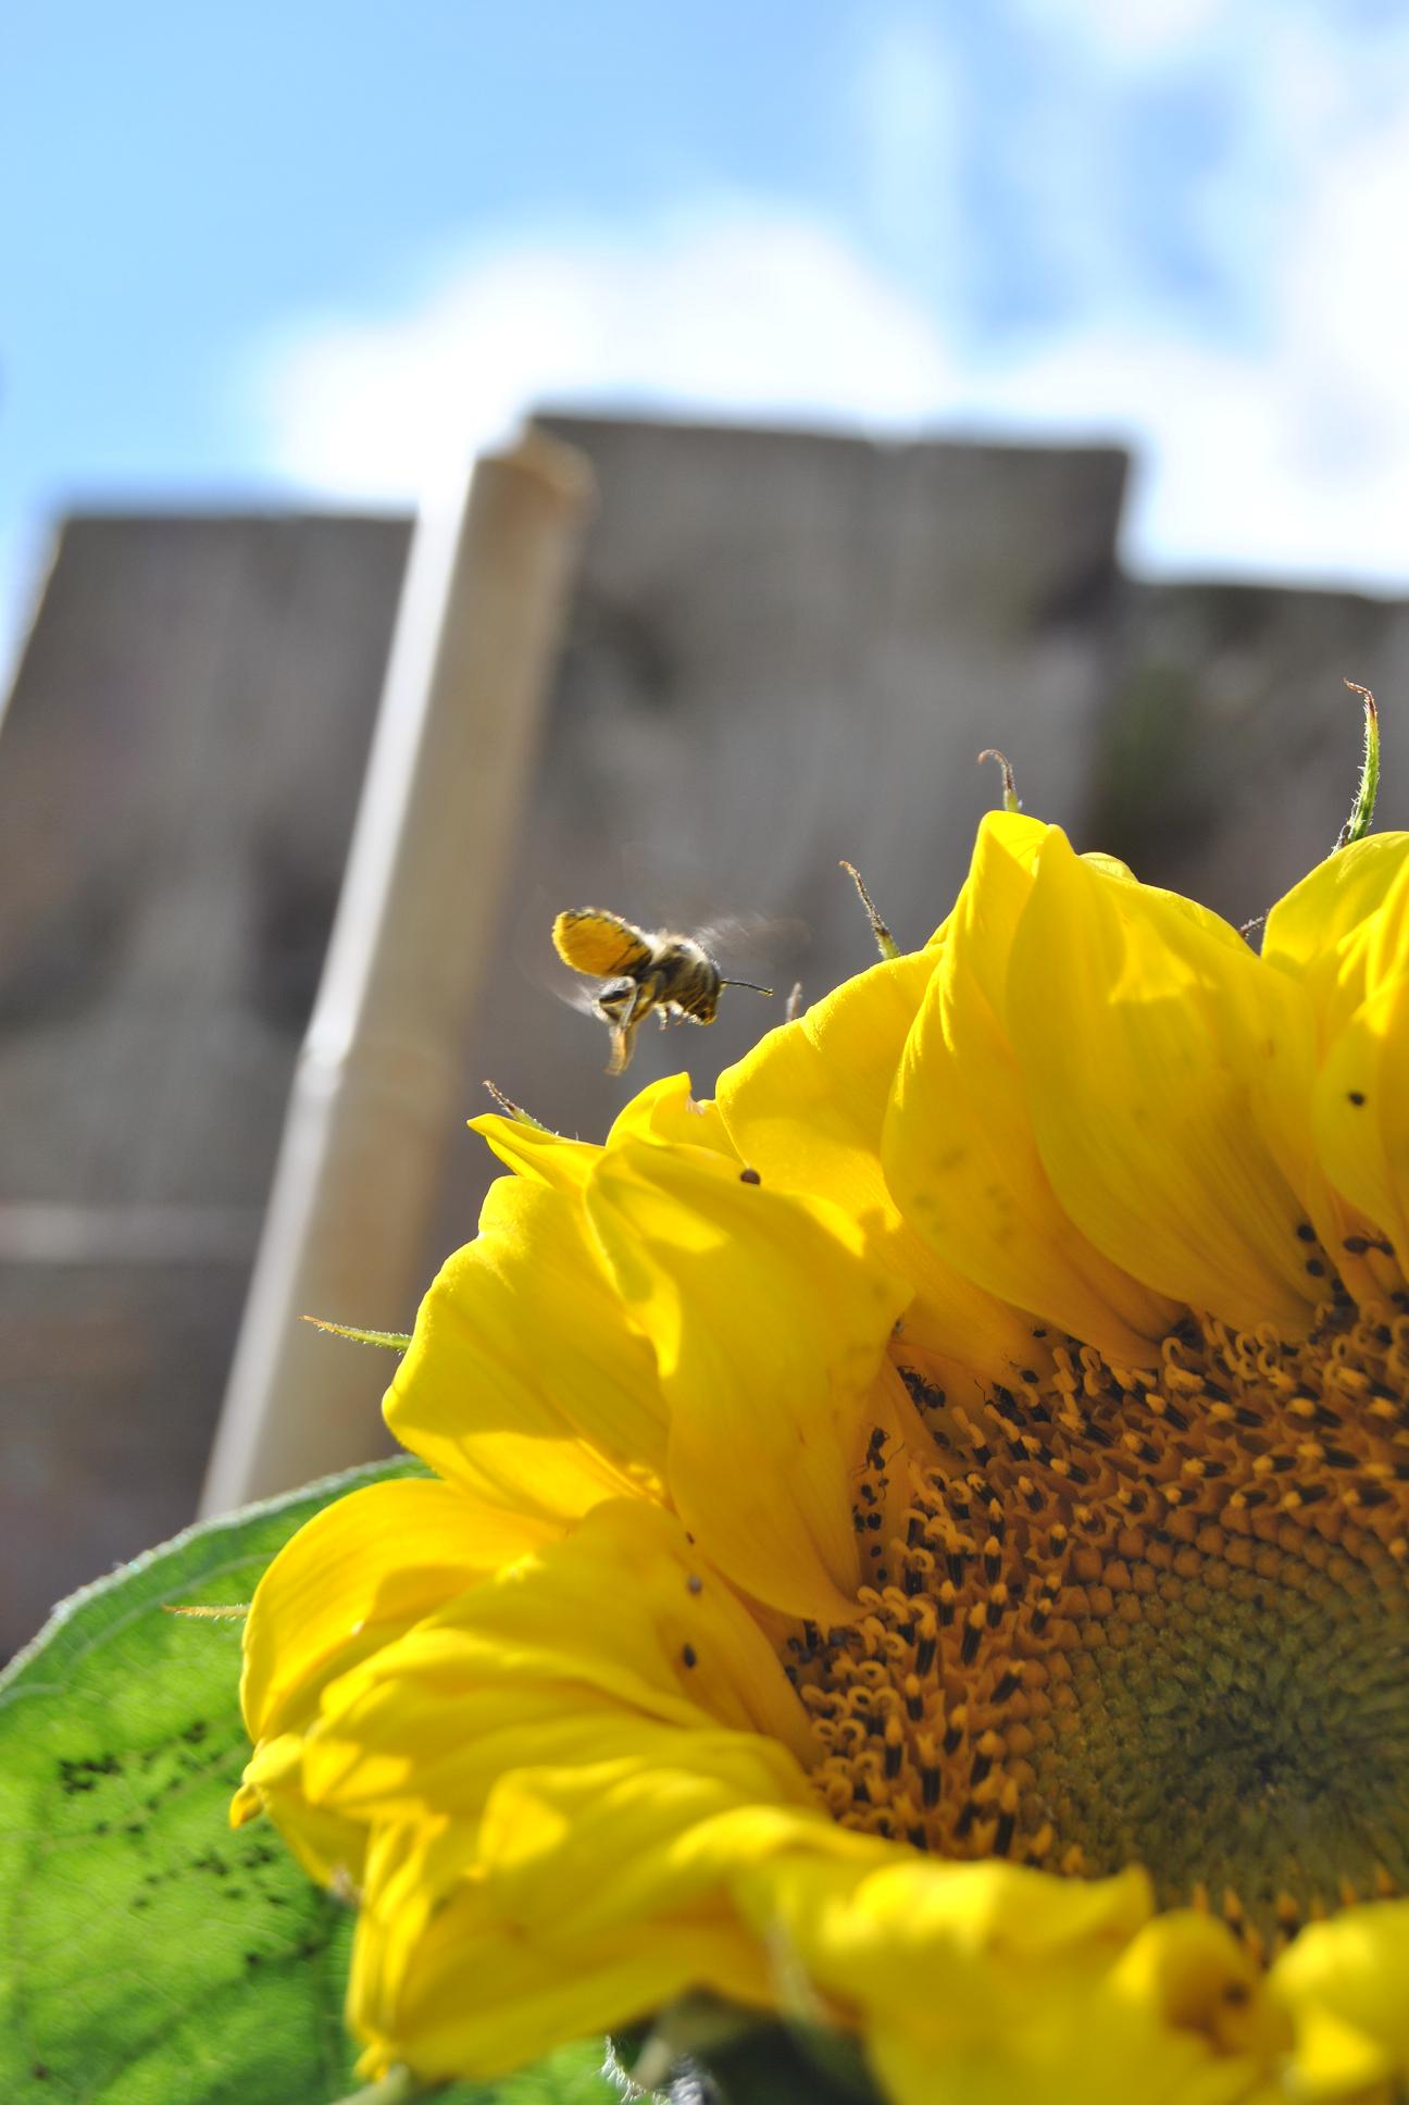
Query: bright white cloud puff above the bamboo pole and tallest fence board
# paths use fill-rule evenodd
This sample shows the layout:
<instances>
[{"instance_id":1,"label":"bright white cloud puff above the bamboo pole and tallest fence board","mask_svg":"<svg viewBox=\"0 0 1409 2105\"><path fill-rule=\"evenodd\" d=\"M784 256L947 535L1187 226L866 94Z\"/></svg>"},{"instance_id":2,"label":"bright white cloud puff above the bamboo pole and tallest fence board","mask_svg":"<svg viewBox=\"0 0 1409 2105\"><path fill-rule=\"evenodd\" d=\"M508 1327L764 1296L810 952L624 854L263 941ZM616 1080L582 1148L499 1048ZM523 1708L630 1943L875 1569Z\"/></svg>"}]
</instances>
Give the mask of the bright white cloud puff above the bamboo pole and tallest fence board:
<instances>
[{"instance_id":1,"label":"bright white cloud puff above the bamboo pole and tallest fence board","mask_svg":"<svg viewBox=\"0 0 1409 2105\"><path fill-rule=\"evenodd\" d=\"M541 402L897 429L952 385L939 330L845 242L741 206L474 255L402 314L310 322L255 370L274 463L360 499L415 495Z\"/></svg>"}]
</instances>

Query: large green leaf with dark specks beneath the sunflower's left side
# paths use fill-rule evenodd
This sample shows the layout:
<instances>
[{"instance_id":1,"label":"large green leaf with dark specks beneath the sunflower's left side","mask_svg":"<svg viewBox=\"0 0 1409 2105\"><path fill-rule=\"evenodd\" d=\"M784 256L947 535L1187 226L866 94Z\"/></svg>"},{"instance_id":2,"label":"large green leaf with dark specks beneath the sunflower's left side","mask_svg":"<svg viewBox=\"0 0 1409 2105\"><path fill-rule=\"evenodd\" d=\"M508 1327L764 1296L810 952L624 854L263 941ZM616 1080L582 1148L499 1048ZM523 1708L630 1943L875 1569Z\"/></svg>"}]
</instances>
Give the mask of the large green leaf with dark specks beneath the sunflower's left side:
<instances>
[{"instance_id":1,"label":"large green leaf with dark specks beneath the sunflower's left side","mask_svg":"<svg viewBox=\"0 0 1409 2105\"><path fill-rule=\"evenodd\" d=\"M4 2105L324 2105L356 2090L350 1913L263 1821L227 1825L249 1745L240 1625L274 1551L394 1461L192 1528L65 1602L0 1676ZM600 2046L438 2105L617 2105Z\"/></svg>"}]
</instances>

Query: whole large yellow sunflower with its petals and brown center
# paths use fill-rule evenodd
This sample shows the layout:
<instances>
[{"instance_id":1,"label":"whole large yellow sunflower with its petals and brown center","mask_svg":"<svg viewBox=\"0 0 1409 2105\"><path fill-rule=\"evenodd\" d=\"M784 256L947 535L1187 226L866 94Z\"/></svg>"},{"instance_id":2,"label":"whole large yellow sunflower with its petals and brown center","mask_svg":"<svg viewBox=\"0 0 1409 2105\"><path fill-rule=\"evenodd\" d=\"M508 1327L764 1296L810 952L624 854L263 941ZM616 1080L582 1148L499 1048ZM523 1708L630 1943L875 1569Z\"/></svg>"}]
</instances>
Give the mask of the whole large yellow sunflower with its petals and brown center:
<instances>
[{"instance_id":1,"label":"whole large yellow sunflower with its petals and brown center","mask_svg":"<svg viewBox=\"0 0 1409 2105\"><path fill-rule=\"evenodd\" d=\"M478 1120L434 1476L246 1625L366 2073L674 2010L899 2105L1403 2097L1407 1055L1409 836L1257 954L1005 810L714 1101Z\"/></svg>"}]
</instances>

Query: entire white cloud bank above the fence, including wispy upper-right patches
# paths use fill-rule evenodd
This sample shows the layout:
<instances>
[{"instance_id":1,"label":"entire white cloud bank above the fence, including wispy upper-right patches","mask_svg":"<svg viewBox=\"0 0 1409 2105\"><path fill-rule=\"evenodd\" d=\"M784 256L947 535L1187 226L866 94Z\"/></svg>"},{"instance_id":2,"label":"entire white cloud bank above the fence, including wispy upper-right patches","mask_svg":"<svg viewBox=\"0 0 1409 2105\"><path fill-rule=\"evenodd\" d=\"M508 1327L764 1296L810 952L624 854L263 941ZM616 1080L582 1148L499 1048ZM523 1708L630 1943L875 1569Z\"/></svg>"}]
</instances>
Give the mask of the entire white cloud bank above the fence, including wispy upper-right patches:
<instances>
[{"instance_id":1,"label":"entire white cloud bank above the fence, including wispy upper-right patches","mask_svg":"<svg viewBox=\"0 0 1409 2105\"><path fill-rule=\"evenodd\" d=\"M1034 19L1049 11L1021 4ZM1114 6L1083 0L1087 27ZM1238 42L1253 17L1257 4ZM1203 0L1165 0L1112 65L1192 63L1211 38L1226 63L1232 34ZM1125 297L1129 236L1120 215L1104 217L1102 179L1080 173L1080 154L1038 152L1015 112L994 126L994 152L1019 156L1026 198L1040 187L1030 162L1072 164L1053 177L1045 236L1078 299L1059 326L984 339L963 312L956 78L912 11L882 19L853 93L880 253L906 257L908 185L937 187L948 290L922 299L910 269L887 269L815 213L760 200L617 236L543 232L446 259L396 314L307 320L265 345L265 457L337 497L409 499L541 402L906 436L1125 438L1144 467L1127 522L1142 568L1409 587L1403 42L1339 51L1302 17L1249 63L1230 158L1190 192L1209 267L1247 288L1222 330L1196 303Z\"/></svg>"}]
</instances>

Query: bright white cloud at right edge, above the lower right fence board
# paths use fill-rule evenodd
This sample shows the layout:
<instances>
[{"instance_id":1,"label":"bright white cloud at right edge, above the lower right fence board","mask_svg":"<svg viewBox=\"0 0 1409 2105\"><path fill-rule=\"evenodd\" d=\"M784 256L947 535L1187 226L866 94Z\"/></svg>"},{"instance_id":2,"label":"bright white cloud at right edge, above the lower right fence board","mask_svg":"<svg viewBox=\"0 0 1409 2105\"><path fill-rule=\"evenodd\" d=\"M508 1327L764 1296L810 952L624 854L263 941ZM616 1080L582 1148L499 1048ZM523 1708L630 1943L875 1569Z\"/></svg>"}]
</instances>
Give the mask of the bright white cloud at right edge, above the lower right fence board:
<instances>
[{"instance_id":1,"label":"bright white cloud at right edge, above the lower right fence board","mask_svg":"<svg viewBox=\"0 0 1409 2105\"><path fill-rule=\"evenodd\" d=\"M1297 168L1285 244L1259 259L1262 324L1219 347L1099 330L1040 347L981 396L1028 429L1093 404L1148 474L1131 552L1217 568L1409 585L1409 101ZM1251 259L1249 259L1251 261Z\"/></svg>"}]
</instances>

